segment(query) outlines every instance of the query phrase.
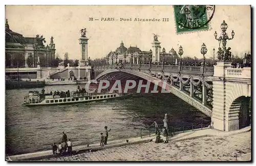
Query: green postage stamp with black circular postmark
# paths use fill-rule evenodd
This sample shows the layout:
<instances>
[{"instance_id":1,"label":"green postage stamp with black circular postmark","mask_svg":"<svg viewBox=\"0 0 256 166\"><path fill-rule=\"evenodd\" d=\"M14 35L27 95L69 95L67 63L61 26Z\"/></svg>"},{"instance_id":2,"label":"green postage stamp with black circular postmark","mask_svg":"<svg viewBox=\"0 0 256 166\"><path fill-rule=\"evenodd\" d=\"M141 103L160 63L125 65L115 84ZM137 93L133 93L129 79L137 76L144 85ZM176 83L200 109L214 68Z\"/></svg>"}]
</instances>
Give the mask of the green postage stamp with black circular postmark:
<instances>
[{"instance_id":1,"label":"green postage stamp with black circular postmark","mask_svg":"<svg viewBox=\"0 0 256 166\"><path fill-rule=\"evenodd\" d=\"M214 12L214 5L174 5L176 32L209 30L209 21Z\"/></svg>"}]
</instances>

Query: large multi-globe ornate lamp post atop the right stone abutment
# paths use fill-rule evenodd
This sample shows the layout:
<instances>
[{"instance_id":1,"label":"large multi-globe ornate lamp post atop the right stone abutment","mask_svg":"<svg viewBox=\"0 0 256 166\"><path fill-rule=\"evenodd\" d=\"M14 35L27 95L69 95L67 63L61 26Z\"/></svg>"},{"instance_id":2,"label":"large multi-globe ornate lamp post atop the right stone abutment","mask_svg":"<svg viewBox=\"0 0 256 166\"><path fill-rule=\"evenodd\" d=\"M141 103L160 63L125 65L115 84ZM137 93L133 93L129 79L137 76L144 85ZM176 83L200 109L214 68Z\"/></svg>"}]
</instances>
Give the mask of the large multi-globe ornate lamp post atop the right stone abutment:
<instances>
[{"instance_id":1,"label":"large multi-globe ornate lamp post atop the right stone abutment","mask_svg":"<svg viewBox=\"0 0 256 166\"><path fill-rule=\"evenodd\" d=\"M220 54L218 54L218 59L223 61L223 62L228 62L231 61L231 56L229 55L229 51L227 52L226 49L226 44L227 44L227 40L232 40L234 38L234 31L232 30L231 32L231 38L228 37L226 31L227 31L227 23L225 22L225 20L223 20L222 24L221 24L221 30L222 30L222 36L220 36L219 38L217 38L217 32L215 31L214 36L215 39L219 41L219 43L222 43L222 51ZM227 52L227 53L226 53Z\"/></svg>"}]
</instances>

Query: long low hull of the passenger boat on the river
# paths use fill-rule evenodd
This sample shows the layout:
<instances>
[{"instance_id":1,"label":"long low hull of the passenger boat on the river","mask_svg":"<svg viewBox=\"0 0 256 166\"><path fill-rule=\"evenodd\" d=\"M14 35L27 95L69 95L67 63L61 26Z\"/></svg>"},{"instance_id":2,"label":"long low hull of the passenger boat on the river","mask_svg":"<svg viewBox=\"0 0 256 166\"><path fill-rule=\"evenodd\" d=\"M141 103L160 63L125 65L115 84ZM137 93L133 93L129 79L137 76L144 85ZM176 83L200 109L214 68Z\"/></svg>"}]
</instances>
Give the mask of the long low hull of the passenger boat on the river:
<instances>
[{"instance_id":1,"label":"long low hull of the passenger boat on the river","mask_svg":"<svg viewBox=\"0 0 256 166\"><path fill-rule=\"evenodd\" d=\"M23 105L24 106L38 106L38 105L60 105L60 104L76 104L76 103L90 103L90 102L98 102L98 101L104 101L104 100L114 100L114 99L123 99L123 98L128 98L128 97L131 97L133 94L127 94L127 95L122 95L122 96L116 96L116 97L110 97L110 98L100 98L100 99L89 99L89 100L79 100L79 101L66 101L66 102L54 102L54 103L24 103ZM81 98L81 97L77 97L77 98ZM84 97L83 97L84 98ZM51 99L51 100L63 100L65 98L54 98L54 99ZM66 98L67 99L72 99L72 98Z\"/></svg>"}]
</instances>

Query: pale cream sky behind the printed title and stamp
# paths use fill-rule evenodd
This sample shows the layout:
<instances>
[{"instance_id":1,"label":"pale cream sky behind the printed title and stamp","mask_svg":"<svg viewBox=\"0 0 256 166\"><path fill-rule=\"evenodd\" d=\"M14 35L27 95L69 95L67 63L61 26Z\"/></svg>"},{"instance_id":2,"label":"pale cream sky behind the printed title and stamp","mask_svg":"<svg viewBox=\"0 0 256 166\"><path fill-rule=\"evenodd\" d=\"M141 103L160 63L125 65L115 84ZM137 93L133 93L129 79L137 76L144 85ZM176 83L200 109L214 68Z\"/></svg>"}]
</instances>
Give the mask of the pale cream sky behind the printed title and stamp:
<instances>
[{"instance_id":1,"label":"pale cream sky behind the printed title and stamp","mask_svg":"<svg viewBox=\"0 0 256 166\"><path fill-rule=\"evenodd\" d=\"M6 6L6 18L10 29L24 37L44 35L46 44L54 37L56 54L63 58L80 59L80 30L87 28L88 56L91 59L105 57L115 51L123 41L126 48L138 46L142 51L152 48L153 33L158 34L161 47L166 51L181 45L183 56L202 58L202 43L207 47L206 58L213 57L219 43L214 32L221 34L223 20L228 24L227 34L234 39L227 42L231 52L242 55L251 51L250 6L216 6L208 31L176 34L174 8L172 6ZM116 21L101 21L101 18ZM89 18L99 19L90 21ZM169 18L168 22L120 21L120 18ZM177 51L178 52L178 51ZM216 52L215 52L216 53Z\"/></svg>"}]
</instances>

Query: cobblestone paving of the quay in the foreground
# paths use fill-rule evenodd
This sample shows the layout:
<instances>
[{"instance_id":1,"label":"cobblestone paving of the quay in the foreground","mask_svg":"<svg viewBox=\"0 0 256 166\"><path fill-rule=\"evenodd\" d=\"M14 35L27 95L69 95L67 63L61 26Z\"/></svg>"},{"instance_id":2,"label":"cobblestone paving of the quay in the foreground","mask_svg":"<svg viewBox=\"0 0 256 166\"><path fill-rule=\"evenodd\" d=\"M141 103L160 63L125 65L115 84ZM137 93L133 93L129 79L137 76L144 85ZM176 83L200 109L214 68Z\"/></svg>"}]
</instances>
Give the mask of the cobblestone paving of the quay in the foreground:
<instances>
[{"instance_id":1,"label":"cobblestone paving of the quay in the foreground","mask_svg":"<svg viewBox=\"0 0 256 166\"><path fill-rule=\"evenodd\" d=\"M206 136L170 141L167 144L126 145L42 161L248 161L250 153L251 132L245 132L228 137Z\"/></svg>"}]
</instances>

